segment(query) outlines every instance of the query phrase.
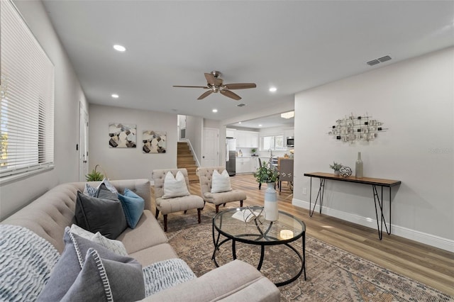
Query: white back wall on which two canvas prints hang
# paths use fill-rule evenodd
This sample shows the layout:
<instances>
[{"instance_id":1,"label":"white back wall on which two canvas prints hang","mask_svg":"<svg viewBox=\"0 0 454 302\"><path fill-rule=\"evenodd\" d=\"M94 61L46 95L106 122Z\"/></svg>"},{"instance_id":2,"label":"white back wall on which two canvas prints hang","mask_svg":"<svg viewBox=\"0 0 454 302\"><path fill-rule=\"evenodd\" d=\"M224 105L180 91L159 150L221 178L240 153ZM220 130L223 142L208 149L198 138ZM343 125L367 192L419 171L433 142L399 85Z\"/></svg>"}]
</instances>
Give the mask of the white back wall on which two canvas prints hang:
<instances>
[{"instance_id":1,"label":"white back wall on which two canvas prints hang","mask_svg":"<svg viewBox=\"0 0 454 302\"><path fill-rule=\"evenodd\" d=\"M109 179L151 179L153 169L177 168L177 115L114 106L89 106L89 170L100 164ZM137 125L135 148L109 147L109 123ZM167 131L165 153L143 153L143 130Z\"/></svg>"}]
</instances>

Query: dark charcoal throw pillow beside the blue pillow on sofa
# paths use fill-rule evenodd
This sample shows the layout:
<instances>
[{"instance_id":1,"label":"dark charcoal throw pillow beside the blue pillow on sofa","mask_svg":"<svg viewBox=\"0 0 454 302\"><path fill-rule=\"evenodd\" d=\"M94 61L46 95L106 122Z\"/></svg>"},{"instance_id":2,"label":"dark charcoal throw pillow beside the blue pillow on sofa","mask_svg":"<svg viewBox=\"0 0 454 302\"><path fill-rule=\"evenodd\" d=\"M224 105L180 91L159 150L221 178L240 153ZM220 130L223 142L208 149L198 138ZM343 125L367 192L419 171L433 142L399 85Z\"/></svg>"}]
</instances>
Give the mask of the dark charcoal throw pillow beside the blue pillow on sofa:
<instances>
[{"instance_id":1,"label":"dark charcoal throw pillow beside the blue pillow on sofa","mask_svg":"<svg viewBox=\"0 0 454 302\"><path fill-rule=\"evenodd\" d=\"M128 227L118 198L96 198L78 191L74 216L79 227L109 239L116 239Z\"/></svg>"}]
</instances>

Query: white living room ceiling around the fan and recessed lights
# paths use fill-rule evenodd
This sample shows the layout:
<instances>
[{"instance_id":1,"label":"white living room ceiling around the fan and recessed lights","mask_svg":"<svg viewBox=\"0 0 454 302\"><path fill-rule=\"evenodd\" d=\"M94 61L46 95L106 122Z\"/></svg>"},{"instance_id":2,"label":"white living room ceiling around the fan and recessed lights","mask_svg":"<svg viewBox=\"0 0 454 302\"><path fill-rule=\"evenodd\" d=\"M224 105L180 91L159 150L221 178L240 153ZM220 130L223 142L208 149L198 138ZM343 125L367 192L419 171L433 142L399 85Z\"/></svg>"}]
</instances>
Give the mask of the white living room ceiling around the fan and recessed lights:
<instances>
[{"instance_id":1,"label":"white living room ceiling around the fan and recessed lights","mask_svg":"<svg viewBox=\"0 0 454 302\"><path fill-rule=\"evenodd\" d=\"M90 103L214 120L277 113L298 91L454 45L454 1L43 3ZM203 89L172 87L204 86L212 70L257 88L198 101Z\"/></svg>"}]
</instances>

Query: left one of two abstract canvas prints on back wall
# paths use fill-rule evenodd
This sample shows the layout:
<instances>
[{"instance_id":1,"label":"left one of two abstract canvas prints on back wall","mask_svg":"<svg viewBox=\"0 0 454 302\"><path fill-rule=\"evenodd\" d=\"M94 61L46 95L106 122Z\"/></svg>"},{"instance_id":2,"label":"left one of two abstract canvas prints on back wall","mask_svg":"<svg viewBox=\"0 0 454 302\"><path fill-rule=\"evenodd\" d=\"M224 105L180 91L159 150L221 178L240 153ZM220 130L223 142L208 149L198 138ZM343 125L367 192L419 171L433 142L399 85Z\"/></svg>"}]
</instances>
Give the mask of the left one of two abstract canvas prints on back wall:
<instances>
[{"instance_id":1,"label":"left one of two abstract canvas prints on back wall","mask_svg":"<svg viewBox=\"0 0 454 302\"><path fill-rule=\"evenodd\" d=\"M109 147L135 148L137 126L123 123L109 123Z\"/></svg>"}]
</instances>

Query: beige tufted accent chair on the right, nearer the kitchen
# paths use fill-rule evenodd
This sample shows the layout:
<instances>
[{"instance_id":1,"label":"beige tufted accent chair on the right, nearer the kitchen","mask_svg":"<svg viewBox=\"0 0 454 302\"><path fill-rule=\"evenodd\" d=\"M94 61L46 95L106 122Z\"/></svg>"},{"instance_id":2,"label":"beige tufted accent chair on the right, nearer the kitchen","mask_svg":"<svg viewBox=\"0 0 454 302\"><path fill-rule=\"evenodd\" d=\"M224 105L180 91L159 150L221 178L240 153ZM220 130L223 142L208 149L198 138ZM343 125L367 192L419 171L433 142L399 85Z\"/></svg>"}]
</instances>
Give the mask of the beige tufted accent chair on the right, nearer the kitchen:
<instances>
[{"instance_id":1,"label":"beige tufted accent chair on the right, nearer the kitchen","mask_svg":"<svg viewBox=\"0 0 454 302\"><path fill-rule=\"evenodd\" d=\"M199 167L196 169L196 174L200 181L201 196L204 201L213 203L216 206L216 213L219 211L219 206L232 201L240 201L240 206L243 206L243 201L246 199L244 191L232 189L231 191L221 193L211 193L211 180L213 179L213 172L217 170L219 174L225 170L225 167Z\"/></svg>"}]
</instances>

